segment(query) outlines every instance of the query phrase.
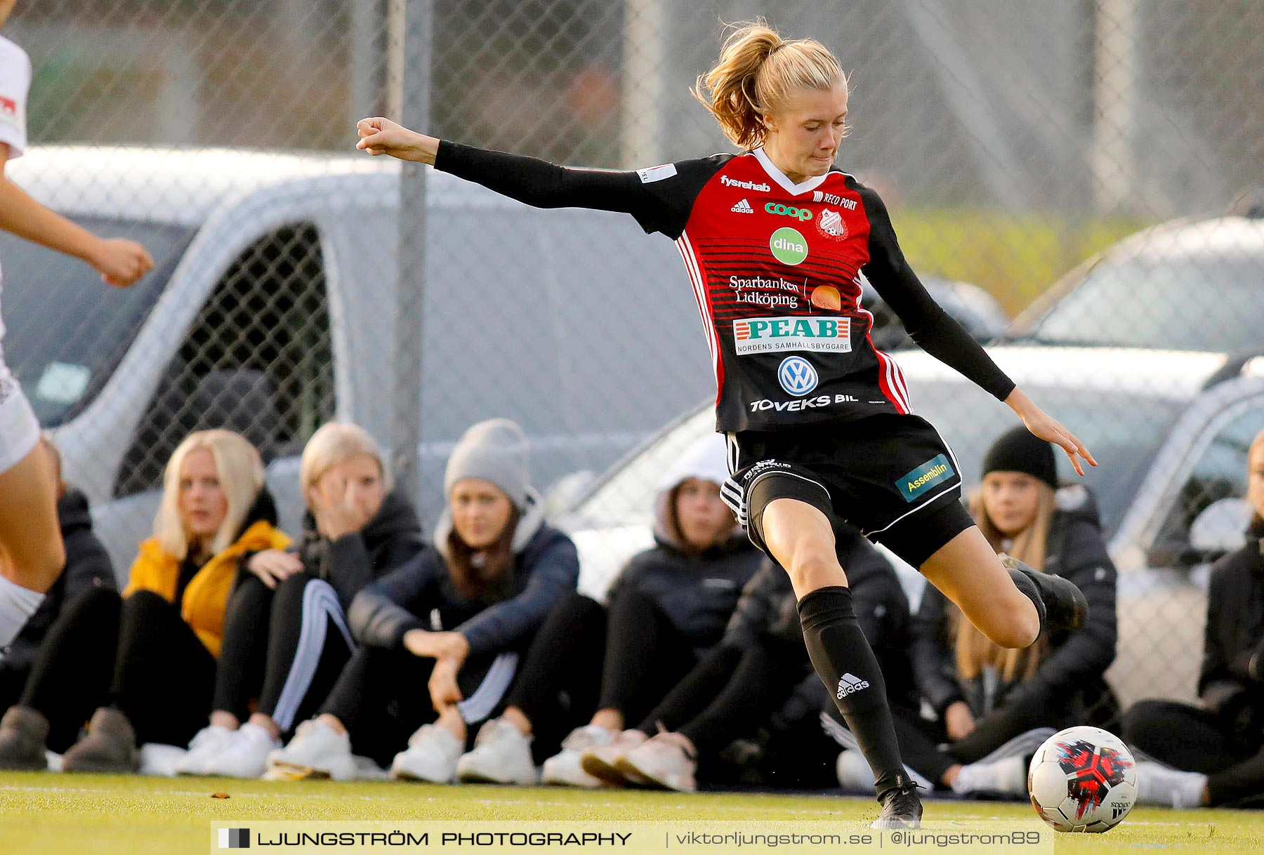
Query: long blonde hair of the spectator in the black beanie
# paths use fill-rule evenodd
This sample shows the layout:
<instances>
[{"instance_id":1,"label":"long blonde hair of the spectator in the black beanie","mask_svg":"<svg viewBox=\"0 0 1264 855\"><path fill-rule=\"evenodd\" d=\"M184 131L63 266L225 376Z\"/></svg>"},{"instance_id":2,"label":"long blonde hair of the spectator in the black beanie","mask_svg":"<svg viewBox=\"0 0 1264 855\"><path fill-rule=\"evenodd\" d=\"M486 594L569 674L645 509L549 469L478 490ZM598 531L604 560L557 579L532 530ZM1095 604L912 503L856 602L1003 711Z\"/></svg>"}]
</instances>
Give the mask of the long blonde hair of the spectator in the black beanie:
<instances>
[{"instance_id":1,"label":"long blonde hair of the spectator in the black beanie","mask_svg":"<svg viewBox=\"0 0 1264 855\"><path fill-rule=\"evenodd\" d=\"M1044 481L1036 481L1036 506L1035 519L1023 533L1014 538L1012 546L1006 549L1007 554L1018 558L1026 566L1043 571L1045 547L1049 541L1049 525L1053 513L1057 510L1057 494ZM969 513L983 533L992 549L1001 552L1001 543L1005 535L996 528L996 523L987 515L983 506L982 493L975 493L969 498ZM964 619L961 610L951 607L949 628L953 637L953 648L957 659L957 674L963 679L978 677L985 666L995 668L1001 679L1010 682L1021 677L1030 678L1039 667L1040 661L1049 652L1045 637L1042 635L1036 643L1019 649L1004 648L983 635L972 623Z\"/></svg>"}]
</instances>

